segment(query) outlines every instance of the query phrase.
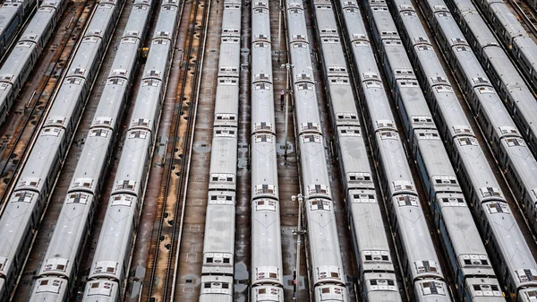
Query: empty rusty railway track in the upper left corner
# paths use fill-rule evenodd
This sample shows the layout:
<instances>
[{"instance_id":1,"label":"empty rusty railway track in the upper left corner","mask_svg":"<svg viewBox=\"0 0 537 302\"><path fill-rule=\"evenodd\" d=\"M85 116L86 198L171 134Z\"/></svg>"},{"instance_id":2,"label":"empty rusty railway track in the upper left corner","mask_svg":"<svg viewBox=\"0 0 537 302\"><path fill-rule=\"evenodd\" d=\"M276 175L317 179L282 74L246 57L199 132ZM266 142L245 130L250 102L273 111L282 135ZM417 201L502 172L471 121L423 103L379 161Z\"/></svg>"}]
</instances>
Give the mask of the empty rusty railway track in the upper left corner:
<instances>
[{"instance_id":1,"label":"empty rusty railway track in the upper left corner","mask_svg":"<svg viewBox=\"0 0 537 302\"><path fill-rule=\"evenodd\" d=\"M34 90L30 89L21 93L17 108L13 110L13 112L21 112L21 115L12 113L2 127L4 140L0 142L0 179L2 180L0 182L0 203L2 211L7 196L13 190L14 180L17 179L21 171L20 168L24 166L38 131L44 123L43 118L52 106L51 99L54 98L55 91L59 83L62 82L66 72L65 66L69 65L81 33L88 24L96 4L95 0L70 4L67 12L72 10L75 12L64 13L62 22L58 23L55 38L49 43L46 51L43 51L41 63L36 67L40 73L34 77L39 79L36 81L38 84L32 82L26 86L34 88ZM67 43L62 43L63 41L67 41ZM52 64L48 62L52 62ZM49 71L49 65L53 66L51 71ZM28 99L28 101L23 102L22 99ZM11 129L13 129L12 134L5 134ZM6 138L5 135L11 136L11 139Z\"/></svg>"}]
</instances>

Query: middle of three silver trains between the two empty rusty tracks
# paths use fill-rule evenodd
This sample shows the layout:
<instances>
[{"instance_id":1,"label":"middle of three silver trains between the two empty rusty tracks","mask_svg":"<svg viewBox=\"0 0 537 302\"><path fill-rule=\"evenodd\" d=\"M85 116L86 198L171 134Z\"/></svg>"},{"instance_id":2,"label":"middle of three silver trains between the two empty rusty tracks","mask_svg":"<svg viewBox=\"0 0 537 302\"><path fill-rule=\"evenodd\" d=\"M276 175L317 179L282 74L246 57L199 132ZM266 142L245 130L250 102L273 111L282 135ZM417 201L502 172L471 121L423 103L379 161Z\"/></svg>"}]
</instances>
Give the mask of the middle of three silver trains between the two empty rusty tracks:
<instances>
[{"instance_id":1,"label":"middle of three silver trains between the two empty rusty tracks","mask_svg":"<svg viewBox=\"0 0 537 302\"><path fill-rule=\"evenodd\" d=\"M139 64L139 49L148 28L151 5L149 0L136 0L132 6L45 259L34 281L30 302L72 299L87 234L115 154L118 128ZM107 283L94 284L111 295L119 294L117 287Z\"/></svg>"}]
</instances>

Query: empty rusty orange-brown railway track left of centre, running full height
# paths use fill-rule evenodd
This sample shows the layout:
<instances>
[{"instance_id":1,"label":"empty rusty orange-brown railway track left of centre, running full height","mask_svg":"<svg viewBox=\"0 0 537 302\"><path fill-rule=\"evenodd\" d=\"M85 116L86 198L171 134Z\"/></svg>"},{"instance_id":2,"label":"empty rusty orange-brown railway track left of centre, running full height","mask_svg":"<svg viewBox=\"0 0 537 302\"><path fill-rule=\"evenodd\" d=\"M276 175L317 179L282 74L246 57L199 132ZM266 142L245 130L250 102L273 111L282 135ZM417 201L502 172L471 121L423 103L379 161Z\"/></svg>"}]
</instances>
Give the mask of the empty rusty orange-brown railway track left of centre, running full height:
<instances>
[{"instance_id":1,"label":"empty rusty orange-brown railway track left of centre, running full height","mask_svg":"<svg viewBox=\"0 0 537 302\"><path fill-rule=\"evenodd\" d=\"M203 65L205 38L208 23L208 5L200 0L186 4L189 18L182 22L190 25L183 37L183 68L180 75L179 92L177 93L175 113L169 137L172 142L167 144L165 176L162 180L163 189L158 196L160 214L158 217L157 241L151 248L154 250L152 268L149 277L149 299L152 301L171 301L174 297L177 259L175 257L178 239L183 229L184 194L188 182L190 156L192 150L192 126L195 123L197 97L200 90L200 73ZM209 6L210 7L210 6ZM192 117L192 118L190 118Z\"/></svg>"}]
</instances>

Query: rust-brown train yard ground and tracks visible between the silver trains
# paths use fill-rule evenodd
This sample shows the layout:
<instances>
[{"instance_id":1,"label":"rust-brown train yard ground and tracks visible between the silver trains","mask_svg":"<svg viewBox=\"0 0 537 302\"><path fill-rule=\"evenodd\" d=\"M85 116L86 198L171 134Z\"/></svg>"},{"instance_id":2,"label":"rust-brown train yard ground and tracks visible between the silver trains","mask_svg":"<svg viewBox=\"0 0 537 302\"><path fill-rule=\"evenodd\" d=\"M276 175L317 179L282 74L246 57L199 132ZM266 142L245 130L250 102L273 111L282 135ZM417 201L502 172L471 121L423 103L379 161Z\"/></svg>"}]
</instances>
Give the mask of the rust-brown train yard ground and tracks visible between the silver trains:
<instances>
[{"instance_id":1,"label":"rust-brown train yard ground and tracks visible between the silver trains","mask_svg":"<svg viewBox=\"0 0 537 302\"><path fill-rule=\"evenodd\" d=\"M161 0L166 1L166 0ZM158 7L161 1L157 2ZM254 301L252 297L252 276L255 268L251 267L251 249L253 236L251 232L251 79L252 74L252 44L251 44L251 5L257 0L243 0L241 4L242 29L240 31L240 68L239 68L239 95L237 116L237 159L236 159L236 191L235 191L235 231L234 231L234 283L231 296L235 302ZM334 3L332 0L328 3ZM330 191L334 205L337 225L337 240L341 249L343 274L345 275L345 288L347 289L347 301L363 301L360 268L357 256L354 255L353 233L349 227L348 204L345 198L344 181L341 179L340 162L337 155L337 139L335 130L332 129L330 107L328 105L327 83L322 75L323 62L320 57L320 43L317 40L314 26L313 10L314 0L304 0L304 14L307 22L308 39L311 45L311 57L313 66L311 73L314 76L315 91L318 99L316 104L320 109L320 129L325 139L325 158L328 163L328 176ZM414 7L418 8L422 1L413 0ZM30 81L22 85L21 93L15 100L10 114L3 125L0 125L0 215L4 206L9 202L13 194L18 176L26 164L33 143L36 141L40 127L45 123L45 117L52 105L55 93L58 90L58 82L64 80L65 73L72 68L70 66L72 56L77 49L83 32L90 22L92 13L99 1L84 0L70 1L64 14L55 28L53 38L45 46L43 54L38 58L38 64L30 75ZM363 22L367 24L363 1L359 5L362 10ZM537 41L537 13L526 4L524 0L506 0L516 19L521 22L524 29L529 32L529 37ZM223 12L226 9L226 0L186 0L180 1L180 19L173 59L170 62L170 74L167 79L166 91L164 91L162 113L156 134L153 157L148 162L149 178L144 189L145 200L141 206L141 217L137 221L135 241L129 255L129 265L124 276L124 288L121 290L120 301L135 302L197 302L203 292L202 269L204 261L204 238L206 224L212 221L206 220L208 207L208 190L211 181L209 168L215 122L215 104L217 101L218 63L222 57L219 55L223 24ZM126 1L121 11L112 39L107 46L104 60L98 69L98 75L92 86L89 99L84 107L80 122L77 123L75 134L68 148L67 157L63 161L62 168L55 177L55 189L47 195L46 211L39 215L38 231L31 240L30 253L23 255L24 267L16 275L16 287L9 298L13 302L30 301L32 290L38 278L38 271L44 262L47 246L53 231L57 228L55 221L58 220L64 204L64 196L71 185L72 175L81 156L84 140L93 121L94 113L101 98L103 89L107 83L108 74L115 57L115 50L122 39L125 25L132 10L133 1ZM333 5L335 13L337 6ZM282 246L283 291L281 301L316 301L315 285L311 284L314 268L311 267L311 250L306 227L305 234L297 234L299 223L299 202L294 195L303 193L301 177L301 160L303 156L299 151L299 135L296 134L297 116L294 108L293 87L286 65L290 62L290 50L288 49L288 24L286 22L286 0L268 1L269 29L271 33L271 62L272 90L274 91L274 116L277 151L277 193L279 195L280 234ZM455 72L452 65L448 64L445 56L439 49L435 35L430 31L425 22L422 11L417 12L423 27L431 41L431 45L440 57L441 64L448 71L448 80L456 82ZM158 10L154 9L151 14L149 32L157 26ZM371 29L368 30L371 36ZM152 35L149 34L142 43L141 54L147 54L151 47ZM372 43L371 43L372 44ZM408 50L408 49L407 49ZM379 49L375 49L379 58ZM114 153L107 171L106 181L102 184L102 191L98 198L97 210L95 211L88 240L83 253L78 272L75 273L75 286L72 289L72 301L82 301L85 285L88 281L93 262L93 254L98 245L98 238L102 229L103 220L106 216L108 198L113 191L115 172L119 163L121 151L124 148L126 129L131 123L132 107L135 96L141 87L141 79L145 67L145 55L141 55L141 62L135 71L131 86L130 97L127 99L127 109L124 119L119 127L117 142ZM513 60L516 58L512 57ZM352 65L352 60L347 60ZM537 64L537 62L535 62ZM293 67L291 67L293 68ZM292 74L292 73L291 73ZM0 81L1 82L1 81ZM487 141L481 127L476 122L477 113L471 110L468 104L471 100L464 98L461 86L457 83L454 88L458 99L462 102L465 116L472 125L477 140L485 151L485 157L492 168L496 178L499 179L501 191L504 193L507 203L514 209L516 222L528 246L533 259L537 259L537 233L532 228L532 218L524 214L524 205L513 193L506 172L499 165L498 159L490 150L490 142ZM393 89L385 84L387 91ZM531 88L533 92L533 88ZM357 90L356 90L357 91ZM288 107L286 108L286 98ZM500 104L503 106L503 104ZM358 108L363 110L364 108ZM392 108L395 112L395 109ZM286 114L287 113L287 114ZM433 114L434 115L434 114ZM361 115L362 119L364 116ZM397 120L397 127L403 135L404 121ZM366 136L366 135L364 135ZM371 138L370 138L371 140ZM371 142L368 144L368 160L371 170L376 174L379 159L373 156ZM413 146L404 137L405 152L408 162L416 176L420 173L418 163L412 160ZM372 179L378 179L376 175ZM425 211L430 236L439 254L440 265L447 271L449 255L441 247L441 237L435 226L434 213L427 204L428 194L425 192L425 184L416 184L418 194L422 200L422 208ZM379 190L378 190L379 191ZM389 244L392 251L402 253L402 249L396 248L395 233L392 233L388 224L388 202L379 197L384 218L384 226L387 230ZM303 205L309 206L309 204ZM305 209L305 208L304 208ZM303 211L303 214L305 211ZM306 225L306 218L302 215L301 225ZM478 218L475 217L477 220ZM0 229L3 226L0 226ZM479 240L479 238L476 238ZM297 240L300 240L300 249L297 251ZM508 240L508 238L506 238ZM298 257L297 257L298 253ZM489 251L490 253L490 251ZM1 256L1 255L0 255ZM359 256L358 256L359 257ZM300 263L296 260L300 259ZM404 255L394 254L396 275L400 285L399 293L403 301L410 301L409 290L413 290L412 283L407 283L403 276L401 263L397 262ZM0 266L1 268L1 266ZM296 269L300 275L295 279ZM497 272L498 273L498 272ZM3 276L0 274L0 277ZM537 277L536 277L537 278ZM449 292L454 301L462 300L456 295L455 280L446 277ZM403 287L407 286L406 289ZM0 295L2 293L0 292ZM0 302L4 302L0 297Z\"/></svg>"}]
</instances>

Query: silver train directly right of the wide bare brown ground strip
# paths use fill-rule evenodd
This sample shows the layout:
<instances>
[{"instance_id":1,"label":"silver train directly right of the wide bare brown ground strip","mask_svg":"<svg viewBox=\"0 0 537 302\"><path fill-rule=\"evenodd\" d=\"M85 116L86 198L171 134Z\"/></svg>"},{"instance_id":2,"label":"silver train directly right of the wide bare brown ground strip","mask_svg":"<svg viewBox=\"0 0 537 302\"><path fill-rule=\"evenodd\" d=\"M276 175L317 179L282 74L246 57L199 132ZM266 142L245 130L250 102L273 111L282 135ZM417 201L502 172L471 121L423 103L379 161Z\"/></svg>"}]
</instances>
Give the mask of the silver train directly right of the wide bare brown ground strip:
<instances>
[{"instance_id":1,"label":"silver train directly right of the wide bare brown ground strip","mask_svg":"<svg viewBox=\"0 0 537 302\"><path fill-rule=\"evenodd\" d=\"M225 0L223 5L200 302L231 302L234 294L242 4L240 0Z\"/></svg>"}]
</instances>

